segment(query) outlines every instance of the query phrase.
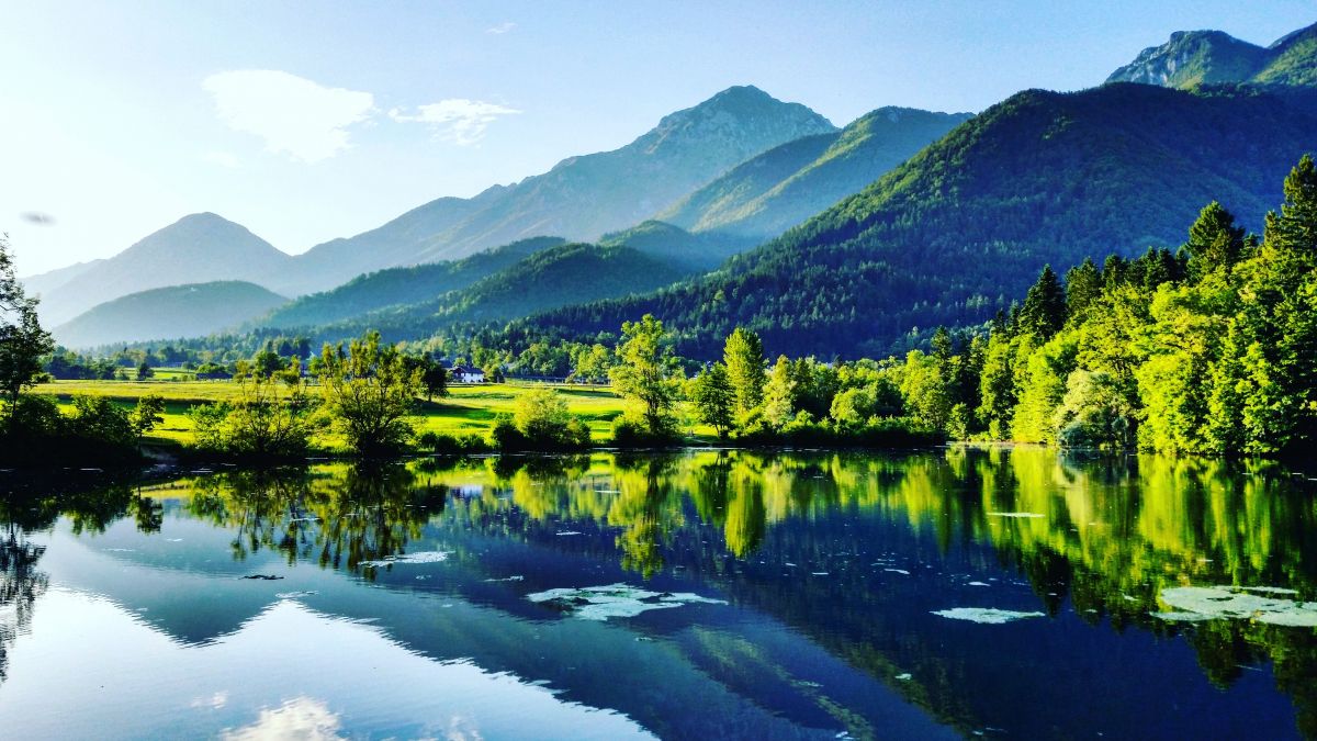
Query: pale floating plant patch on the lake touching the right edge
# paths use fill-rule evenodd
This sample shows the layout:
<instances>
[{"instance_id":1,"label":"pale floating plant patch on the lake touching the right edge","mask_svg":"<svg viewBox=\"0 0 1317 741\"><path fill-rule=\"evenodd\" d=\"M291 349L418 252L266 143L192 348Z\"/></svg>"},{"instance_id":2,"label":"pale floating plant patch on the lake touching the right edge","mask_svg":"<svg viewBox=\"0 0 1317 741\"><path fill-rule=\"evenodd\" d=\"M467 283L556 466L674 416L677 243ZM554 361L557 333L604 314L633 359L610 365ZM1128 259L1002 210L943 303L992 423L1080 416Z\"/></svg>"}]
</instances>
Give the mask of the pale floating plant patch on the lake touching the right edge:
<instances>
[{"instance_id":1,"label":"pale floating plant patch on the lake touching the right edge","mask_svg":"<svg viewBox=\"0 0 1317 741\"><path fill-rule=\"evenodd\" d=\"M1256 620L1268 625L1317 628L1317 603L1275 596L1296 593L1283 587L1172 587L1162 589L1160 595L1171 610L1154 612L1152 617L1171 622Z\"/></svg>"}]
</instances>

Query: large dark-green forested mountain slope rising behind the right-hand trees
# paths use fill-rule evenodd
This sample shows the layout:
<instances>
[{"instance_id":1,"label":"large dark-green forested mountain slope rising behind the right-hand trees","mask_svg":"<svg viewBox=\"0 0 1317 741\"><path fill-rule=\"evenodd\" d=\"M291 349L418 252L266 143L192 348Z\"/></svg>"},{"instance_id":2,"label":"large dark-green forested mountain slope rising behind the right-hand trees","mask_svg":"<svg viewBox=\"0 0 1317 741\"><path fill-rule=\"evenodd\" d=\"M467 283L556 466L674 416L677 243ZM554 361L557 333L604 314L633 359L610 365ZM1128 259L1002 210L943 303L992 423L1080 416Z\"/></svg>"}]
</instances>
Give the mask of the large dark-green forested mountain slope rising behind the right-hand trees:
<instances>
[{"instance_id":1,"label":"large dark-green forested mountain slope rising behind the right-hand trees","mask_svg":"<svg viewBox=\"0 0 1317 741\"><path fill-rule=\"evenodd\" d=\"M1256 229L1313 150L1317 119L1256 90L1025 91L716 273L515 331L585 338L652 312L693 357L738 324L773 353L885 355L1009 309L1044 264L1177 245L1210 200Z\"/></svg>"}]
</instances>

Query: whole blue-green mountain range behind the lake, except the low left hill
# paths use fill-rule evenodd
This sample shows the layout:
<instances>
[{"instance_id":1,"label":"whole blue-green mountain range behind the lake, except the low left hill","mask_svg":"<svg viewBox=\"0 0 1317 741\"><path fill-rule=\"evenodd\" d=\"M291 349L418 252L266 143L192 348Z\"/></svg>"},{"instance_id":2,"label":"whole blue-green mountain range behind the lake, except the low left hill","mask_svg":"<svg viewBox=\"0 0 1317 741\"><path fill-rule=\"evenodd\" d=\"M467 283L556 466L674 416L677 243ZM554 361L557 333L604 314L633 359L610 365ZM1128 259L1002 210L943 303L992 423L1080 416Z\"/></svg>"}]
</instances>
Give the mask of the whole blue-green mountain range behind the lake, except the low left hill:
<instances>
[{"instance_id":1,"label":"whole blue-green mountain range behind the lake, except the low left hill","mask_svg":"<svg viewBox=\"0 0 1317 741\"><path fill-rule=\"evenodd\" d=\"M321 291L248 324L262 331L377 323L400 339L515 319L585 338L652 311L693 355L735 324L774 352L884 353L1008 309L1044 264L1175 247L1209 200L1259 228L1317 150L1314 69L1317 26L1267 47L1180 32L1097 88L977 116L885 107L843 129L734 87L620 149L302 256L194 215L29 286L47 322L224 278Z\"/></svg>"}]
</instances>

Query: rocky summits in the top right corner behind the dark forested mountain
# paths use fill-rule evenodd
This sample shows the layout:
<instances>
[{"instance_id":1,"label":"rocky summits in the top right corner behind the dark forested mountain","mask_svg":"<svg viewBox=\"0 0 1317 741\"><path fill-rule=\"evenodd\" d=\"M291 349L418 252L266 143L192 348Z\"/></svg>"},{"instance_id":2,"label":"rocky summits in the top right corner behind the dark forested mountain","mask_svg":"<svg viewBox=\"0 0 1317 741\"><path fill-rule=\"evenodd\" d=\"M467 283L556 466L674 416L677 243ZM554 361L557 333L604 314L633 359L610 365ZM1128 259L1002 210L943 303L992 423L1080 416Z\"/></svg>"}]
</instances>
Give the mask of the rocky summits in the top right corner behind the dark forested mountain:
<instances>
[{"instance_id":1,"label":"rocky summits in the top right corner behind the dark forested mountain","mask_svg":"<svg viewBox=\"0 0 1317 741\"><path fill-rule=\"evenodd\" d=\"M1150 46L1106 82L1188 88L1212 83L1317 86L1317 25L1267 47L1220 30L1181 30Z\"/></svg>"}]
</instances>

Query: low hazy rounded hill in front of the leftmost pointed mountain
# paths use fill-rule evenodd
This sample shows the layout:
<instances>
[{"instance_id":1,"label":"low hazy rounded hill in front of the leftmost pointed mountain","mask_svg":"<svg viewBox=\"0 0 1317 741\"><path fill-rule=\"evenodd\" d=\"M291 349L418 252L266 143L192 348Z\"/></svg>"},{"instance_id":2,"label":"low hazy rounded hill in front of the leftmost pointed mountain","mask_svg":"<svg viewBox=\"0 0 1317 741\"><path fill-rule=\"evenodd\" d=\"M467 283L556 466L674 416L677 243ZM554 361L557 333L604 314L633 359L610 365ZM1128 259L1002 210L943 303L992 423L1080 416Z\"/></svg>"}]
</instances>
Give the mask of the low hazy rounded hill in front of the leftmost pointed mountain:
<instances>
[{"instance_id":1,"label":"low hazy rounded hill in front of the leftmost pointed mountain","mask_svg":"<svg viewBox=\"0 0 1317 741\"><path fill-rule=\"evenodd\" d=\"M59 344L74 348L196 338L241 324L286 301L242 281L169 286L101 303L53 334Z\"/></svg>"}]
</instances>

